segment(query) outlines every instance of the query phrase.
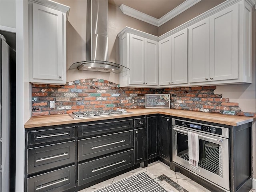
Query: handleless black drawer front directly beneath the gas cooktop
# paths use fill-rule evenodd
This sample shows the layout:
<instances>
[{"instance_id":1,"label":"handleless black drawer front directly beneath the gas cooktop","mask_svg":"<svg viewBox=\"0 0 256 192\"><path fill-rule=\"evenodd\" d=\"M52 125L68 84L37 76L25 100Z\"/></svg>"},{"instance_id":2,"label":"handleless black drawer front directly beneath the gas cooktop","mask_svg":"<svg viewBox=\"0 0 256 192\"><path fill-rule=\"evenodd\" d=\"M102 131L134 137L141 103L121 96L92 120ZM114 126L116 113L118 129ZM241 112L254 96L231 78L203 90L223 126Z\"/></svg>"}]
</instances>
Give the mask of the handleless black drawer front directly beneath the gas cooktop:
<instances>
[{"instance_id":1,"label":"handleless black drawer front directly beneath the gas cooktop","mask_svg":"<svg viewBox=\"0 0 256 192\"><path fill-rule=\"evenodd\" d=\"M113 122L97 122L78 126L78 137L108 134L110 132L132 130L132 119Z\"/></svg>"}]
</instances>

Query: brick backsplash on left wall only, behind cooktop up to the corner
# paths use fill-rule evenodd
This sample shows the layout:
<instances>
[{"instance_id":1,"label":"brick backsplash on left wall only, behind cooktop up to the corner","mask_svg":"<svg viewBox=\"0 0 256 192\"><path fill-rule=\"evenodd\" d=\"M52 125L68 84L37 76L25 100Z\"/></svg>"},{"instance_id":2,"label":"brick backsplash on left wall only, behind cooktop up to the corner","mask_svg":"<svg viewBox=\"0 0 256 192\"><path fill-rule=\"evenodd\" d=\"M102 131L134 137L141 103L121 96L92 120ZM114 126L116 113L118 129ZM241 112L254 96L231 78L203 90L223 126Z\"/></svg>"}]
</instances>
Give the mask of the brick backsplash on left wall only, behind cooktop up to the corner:
<instances>
[{"instance_id":1,"label":"brick backsplash on left wall only, behind cooktop up to the corner","mask_svg":"<svg viewBox=\"0 0 256 192\"><path fill-rule=\"evenodd\" d=\"M149 88L119 88L102 79L81 79L64 86L32 84L32 116L65 114L73 111L113 108L145 108ZM49 101L55 108L49 108ZM134 103L133 103L134 100Z\"/></svg>"}]
</instances>

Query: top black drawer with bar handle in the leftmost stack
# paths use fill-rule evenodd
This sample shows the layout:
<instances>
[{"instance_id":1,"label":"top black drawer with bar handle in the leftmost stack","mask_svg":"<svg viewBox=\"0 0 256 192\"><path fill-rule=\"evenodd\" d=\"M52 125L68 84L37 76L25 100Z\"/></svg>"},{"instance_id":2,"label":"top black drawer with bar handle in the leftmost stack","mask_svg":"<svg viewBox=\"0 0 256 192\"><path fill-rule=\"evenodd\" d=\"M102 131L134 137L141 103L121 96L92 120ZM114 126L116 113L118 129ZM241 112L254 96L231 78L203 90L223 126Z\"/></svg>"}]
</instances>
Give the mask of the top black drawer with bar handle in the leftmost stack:
<instances>
[{"instance_id":1,"label":"top black drawer with bar handle in the leftmost stack","mask_svg":"<svg viewBox=\"0 0 256 192\"><path fill-rule=\"evenodd\" d=\"M28 131L28 145L40 144L75 137L75 127Z\"/></svg>"}]
</instances>

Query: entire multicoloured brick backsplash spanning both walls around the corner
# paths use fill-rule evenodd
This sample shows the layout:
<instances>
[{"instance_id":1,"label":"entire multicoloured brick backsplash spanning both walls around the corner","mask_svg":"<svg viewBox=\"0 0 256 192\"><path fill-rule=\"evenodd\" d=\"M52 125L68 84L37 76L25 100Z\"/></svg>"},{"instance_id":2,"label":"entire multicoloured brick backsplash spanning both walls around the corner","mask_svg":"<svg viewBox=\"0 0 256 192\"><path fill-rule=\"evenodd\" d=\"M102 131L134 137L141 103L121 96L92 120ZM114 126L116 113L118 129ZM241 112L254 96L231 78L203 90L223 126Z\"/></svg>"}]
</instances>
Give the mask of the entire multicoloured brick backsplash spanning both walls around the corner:
<instances>
[{"instance_id":1,"label":"entire multicoloured brick backsplash spanning both walls around the corner","mask_svg":"<svg viewBox=\"0 0 256 192\"><path fill-rule=\"evenodd\" d=\"M73 111L114 108L145 108L145 94L168 93L171 108L256 116L242 112L238 103L214 94L216 86L182 88L120 88L102 79L81 79L66 85L32 84L32 116L65 114ZM49 101L55 108L49 108Z\"/></svg>"}]
</instances>

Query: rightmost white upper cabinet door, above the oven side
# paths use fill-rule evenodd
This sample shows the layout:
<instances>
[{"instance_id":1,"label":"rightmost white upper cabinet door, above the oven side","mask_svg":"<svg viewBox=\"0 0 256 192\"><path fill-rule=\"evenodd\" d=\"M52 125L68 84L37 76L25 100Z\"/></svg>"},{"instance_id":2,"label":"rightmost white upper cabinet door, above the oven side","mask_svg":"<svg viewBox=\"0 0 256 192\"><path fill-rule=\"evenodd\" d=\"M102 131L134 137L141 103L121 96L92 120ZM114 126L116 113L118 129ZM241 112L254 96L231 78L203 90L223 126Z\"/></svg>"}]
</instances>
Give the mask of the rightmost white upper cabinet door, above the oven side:
<instances>
[{"instance_id":1,"label":"rightmost white upper cabinet door, above the oven side","mask_svg":"<svg viewBox=\"0 0 256 192\"><path fill-rule=\"evenodd\" d=\"M238 6L235 4L210 16L210 80L238 78Z\"/></svg>"}]
</instances>

